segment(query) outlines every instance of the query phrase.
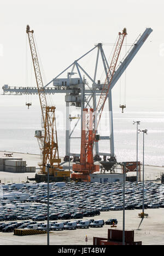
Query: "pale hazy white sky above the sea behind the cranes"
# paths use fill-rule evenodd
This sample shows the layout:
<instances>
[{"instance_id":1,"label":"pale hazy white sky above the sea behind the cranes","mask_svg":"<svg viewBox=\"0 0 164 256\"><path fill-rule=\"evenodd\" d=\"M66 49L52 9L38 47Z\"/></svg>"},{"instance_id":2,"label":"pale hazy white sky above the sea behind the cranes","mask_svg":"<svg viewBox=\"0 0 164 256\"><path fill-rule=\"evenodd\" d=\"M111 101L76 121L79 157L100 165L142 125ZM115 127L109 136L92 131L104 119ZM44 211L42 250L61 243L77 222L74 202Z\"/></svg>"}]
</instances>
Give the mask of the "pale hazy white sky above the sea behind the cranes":
<instances>
[{"instance_id":1,"label":"pale hazy white sky above the sea behind the cranes","mask_svg":"<svg viewBox=\"0 0 164 256\"><path fill-rule=\"evenodd\" d=\"M1 0L0 86L26 86L27 24L37 39L46 82L96 43L104 43L103 49L109 57L112 47L106 44L114 43L124 27L127 28L129 44L145 28L151 27L153 33L127 68L126 104L128 110L137 105L143 110L164 110L163 10L163 0ZM93 69L92 62L95 63L92 57L84 62L86 68L86 63L90 62L89 73ZM0 97L1 106L25 103L25 96ZM34 103L39 104L38 97L33 98ZM63 97L58 95L53 99L59 104ZM119 105L119 82L113 89L113 104Z\"/></svg>"}]
</instances>

